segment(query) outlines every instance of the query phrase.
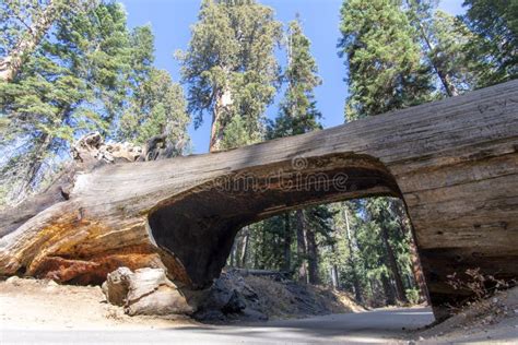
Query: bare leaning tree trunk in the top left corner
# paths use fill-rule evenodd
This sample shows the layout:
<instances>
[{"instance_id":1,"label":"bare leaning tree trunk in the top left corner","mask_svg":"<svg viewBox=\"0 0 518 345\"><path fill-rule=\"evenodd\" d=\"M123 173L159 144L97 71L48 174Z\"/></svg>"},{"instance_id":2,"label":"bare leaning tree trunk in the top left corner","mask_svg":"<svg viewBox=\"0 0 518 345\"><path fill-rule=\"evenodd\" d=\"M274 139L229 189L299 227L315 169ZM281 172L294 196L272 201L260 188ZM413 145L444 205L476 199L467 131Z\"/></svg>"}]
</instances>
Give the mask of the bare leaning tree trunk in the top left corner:
<instances>
[{"instance_id":1,"label":"bare leaning tree trunk in the top left corner","mask_svg":"<svg viewBox=\"0 0 518 345\"><path fill-rule=\"evenodd\" d=\"M20 38L13 50L0 59L0 81L11 82L22 69L24 59L32 53L52 23L62 12L59 0L51 0L38 17L32 19L27 32Z\"/></svg>"}]
</instances>

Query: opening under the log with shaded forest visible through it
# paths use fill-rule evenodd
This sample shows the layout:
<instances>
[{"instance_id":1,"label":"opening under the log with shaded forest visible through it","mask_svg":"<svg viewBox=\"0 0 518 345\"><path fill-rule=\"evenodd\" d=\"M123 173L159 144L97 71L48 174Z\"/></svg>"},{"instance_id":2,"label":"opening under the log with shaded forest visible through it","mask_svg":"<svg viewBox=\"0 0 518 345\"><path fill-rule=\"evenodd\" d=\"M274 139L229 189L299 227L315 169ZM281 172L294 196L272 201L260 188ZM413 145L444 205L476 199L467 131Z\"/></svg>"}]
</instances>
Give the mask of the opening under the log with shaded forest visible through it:
<instances>
[{"instance_id":1,"label":"opening under the log with shaded forest visible through it","mask_svg":"<svg viewBox=\"0 0 518 345\"><path fill-rule=\"evenodd\" d=\"M275 295L263 288L274 285L271 290L290 296L294 310L302 296L291 282L303 289L323 288L325 305L335 302L343 310L349 302L368 308L428 304L412 226L399 198L317 204L248 225L235 237L225 272L242 274L259 295ZM275 305L275 296L266 299Z\"/></svg>"}]
</instances>

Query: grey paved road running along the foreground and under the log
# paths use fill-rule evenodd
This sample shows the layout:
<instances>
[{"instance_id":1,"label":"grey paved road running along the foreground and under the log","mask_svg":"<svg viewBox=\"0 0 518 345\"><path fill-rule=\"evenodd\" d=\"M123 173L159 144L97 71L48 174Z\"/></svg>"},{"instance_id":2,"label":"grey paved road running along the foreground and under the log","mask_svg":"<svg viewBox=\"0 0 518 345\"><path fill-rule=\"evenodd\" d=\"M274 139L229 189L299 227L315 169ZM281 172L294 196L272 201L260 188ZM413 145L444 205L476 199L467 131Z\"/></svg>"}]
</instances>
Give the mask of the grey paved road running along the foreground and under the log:
<instances>
[{"instance_id":1,"label":"grey paved road running along the foreground and under the log","mask_svg":"<svg viewBox=\"0 0 518 345\"><path fill-rule=\"evenodd\" d=\"M361 313L270 321L239 325L207 325L151 331L0 331L0 343L38 344L332 344L387 343L404 331L433 321L428 308L374 310Z\"/></svg>"}]
</instances>

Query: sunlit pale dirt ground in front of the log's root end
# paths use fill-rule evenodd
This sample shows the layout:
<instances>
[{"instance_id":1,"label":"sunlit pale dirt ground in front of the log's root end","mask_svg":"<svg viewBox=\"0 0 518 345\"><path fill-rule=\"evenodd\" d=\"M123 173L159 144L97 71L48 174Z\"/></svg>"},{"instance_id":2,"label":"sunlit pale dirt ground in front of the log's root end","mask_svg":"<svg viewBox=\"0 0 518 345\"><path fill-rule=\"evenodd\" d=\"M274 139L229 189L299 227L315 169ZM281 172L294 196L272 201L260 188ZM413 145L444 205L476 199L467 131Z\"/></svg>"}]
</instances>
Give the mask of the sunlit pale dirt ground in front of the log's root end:
<instances>
[{"instance_id":1,"label":"sunlit pale dirt ground in front of the log's root end","mask_svg":"<svg viewBox=\"0 0 518 345\"><path fill-rule=\"evenodd\" d=\"M189 318L129 317L106 302L98 286L58 285L11 277L0 282L0 323L5 329L148 330L197 324Z\"/></svg>"}]
</instances>

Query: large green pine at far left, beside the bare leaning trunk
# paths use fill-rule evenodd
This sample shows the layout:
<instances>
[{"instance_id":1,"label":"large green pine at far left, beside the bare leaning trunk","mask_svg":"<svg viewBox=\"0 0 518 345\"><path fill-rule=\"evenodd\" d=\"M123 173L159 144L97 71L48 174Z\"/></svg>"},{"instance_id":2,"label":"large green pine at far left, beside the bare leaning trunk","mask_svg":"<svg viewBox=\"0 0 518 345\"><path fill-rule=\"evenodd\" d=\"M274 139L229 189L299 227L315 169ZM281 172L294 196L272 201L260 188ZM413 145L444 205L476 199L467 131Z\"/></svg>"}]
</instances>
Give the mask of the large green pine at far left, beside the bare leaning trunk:
<instances>
[{"instance_id":1,"label":"large green pine at far left, beside the bare leaning trunk","mask_svg":"<svg viewBox=\"0 0 518 345\"><path fill-rule=\"evenodd\" d=\"M123 99L128 34L119 4L62 11L49 32L12 81L0 82L1 179L11 199L37 186L76 134L106 131ZM11 34L2 33L2 43Z\"/></svg>"}]
</instances>

